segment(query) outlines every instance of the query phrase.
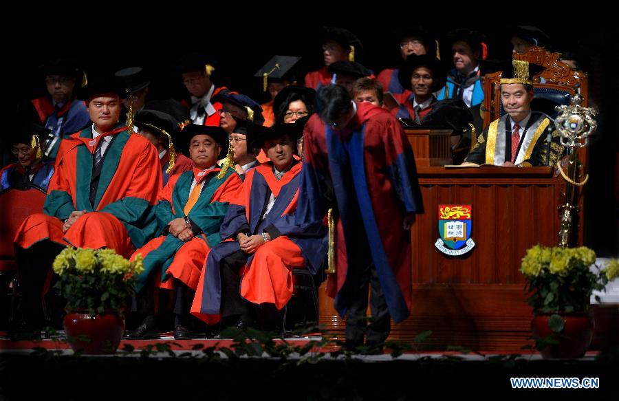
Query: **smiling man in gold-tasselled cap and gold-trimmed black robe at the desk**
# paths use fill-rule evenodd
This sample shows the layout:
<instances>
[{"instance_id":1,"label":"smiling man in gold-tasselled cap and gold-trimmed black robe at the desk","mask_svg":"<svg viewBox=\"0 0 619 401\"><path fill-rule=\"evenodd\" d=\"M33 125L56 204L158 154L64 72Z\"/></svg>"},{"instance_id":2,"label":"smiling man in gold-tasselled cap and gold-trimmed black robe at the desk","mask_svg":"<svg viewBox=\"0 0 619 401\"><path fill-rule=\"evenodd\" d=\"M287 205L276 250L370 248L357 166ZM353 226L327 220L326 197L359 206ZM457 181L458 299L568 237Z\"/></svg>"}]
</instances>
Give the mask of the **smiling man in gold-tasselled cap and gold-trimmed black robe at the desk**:
<instances>
[{"instance_id":1,"label":"smiling man in gold-tasselled cap and gold-trimmed black robe at the desk","mask_svg":"<svg viewBox=\"0 0 619 401\"><path fill-rule=\"evenodd\" d=\"M463 164L497 166L548 166L556 164L562 147L558 132L545 114L532 111L532 77L542 67L512 61L503 71L501 105L506 114L490 123Z\"/></svg>"}]
</instances>

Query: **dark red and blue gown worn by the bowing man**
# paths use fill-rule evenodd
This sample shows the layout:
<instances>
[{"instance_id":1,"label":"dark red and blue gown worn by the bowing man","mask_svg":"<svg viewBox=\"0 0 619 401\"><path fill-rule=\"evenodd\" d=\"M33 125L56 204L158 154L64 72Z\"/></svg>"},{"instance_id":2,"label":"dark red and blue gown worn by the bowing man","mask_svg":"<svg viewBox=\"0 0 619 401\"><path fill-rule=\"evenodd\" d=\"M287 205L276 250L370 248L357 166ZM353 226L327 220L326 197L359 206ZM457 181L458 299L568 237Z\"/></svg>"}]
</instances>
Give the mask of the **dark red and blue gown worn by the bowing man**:
<instances>
[{"instance_id":1,"label":"dark red and blue gown worn by the bowing man","mask_svg":"<svg viewBox=\"0 0 619 401\"><path fill-rule=\"evenodd\" d=\"M327 294L345 316L358 296L346 284L358 243L369 243L389 313L398 323L411 307L411 232L402 228L406 213L422 213L413 151L389 111L367 103L342 131L325 127L318 115L305 125L305 159L296 221L321 225L336 206L337 274L329 274ZM335 197L335 199L333 199ZM354 227L362 227L355 230ZM365 239L358 236L364 235Z\"/></svg>"}]
</instances>

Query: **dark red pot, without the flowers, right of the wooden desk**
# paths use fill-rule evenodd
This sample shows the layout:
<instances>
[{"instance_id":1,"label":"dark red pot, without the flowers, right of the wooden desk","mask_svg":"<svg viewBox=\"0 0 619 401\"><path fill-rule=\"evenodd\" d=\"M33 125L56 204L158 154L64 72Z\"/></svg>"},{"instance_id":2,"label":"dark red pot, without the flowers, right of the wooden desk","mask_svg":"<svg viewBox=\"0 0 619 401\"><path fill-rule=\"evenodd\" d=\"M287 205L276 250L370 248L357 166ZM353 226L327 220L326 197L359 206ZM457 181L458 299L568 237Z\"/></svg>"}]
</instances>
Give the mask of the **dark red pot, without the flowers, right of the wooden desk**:
<instances>
[{"instance_id":1,"label":"dark red pot, without the flowers, right of the wooden desk","mask_svg":"<svg viewBox=\"0 0 619 401\"><path fill-rule=\"evenodd\" d=\"M550 316L558 315L563 320L563 329L554 332L549 325ZM547 345L540 353L544 359L582 358L591 345L594 319L589 312L583 313L536 313L531 321L533 338L552 338L556 345Z\"/></svg>"}]
</instances>

